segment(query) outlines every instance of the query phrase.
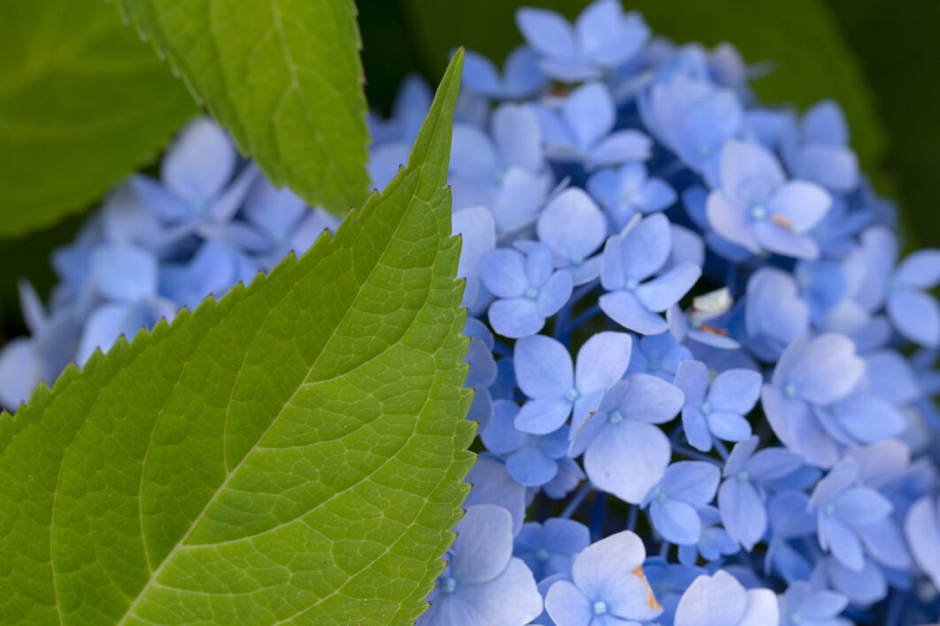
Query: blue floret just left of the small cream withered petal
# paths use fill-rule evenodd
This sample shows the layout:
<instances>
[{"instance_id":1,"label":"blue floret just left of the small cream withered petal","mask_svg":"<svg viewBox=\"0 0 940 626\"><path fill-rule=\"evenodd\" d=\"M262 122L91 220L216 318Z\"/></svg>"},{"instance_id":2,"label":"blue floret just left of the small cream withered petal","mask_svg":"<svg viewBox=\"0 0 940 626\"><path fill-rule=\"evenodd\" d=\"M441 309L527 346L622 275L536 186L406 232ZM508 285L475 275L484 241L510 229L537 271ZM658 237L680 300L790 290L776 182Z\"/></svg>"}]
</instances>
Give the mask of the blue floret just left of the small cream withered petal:
<instances>
[{"instance_id":1,"label":"blue floret just left of the small cream withered petal","mask_svg":"<svg viewBox=\"0 0 940 626\"><path fill-rule=\"evenodd\" d=\"M607 239L603 249L601 297L603 313L624 328L645 335L668 330L663 313L692 288L701 268L682 263L652 278L666 265L672 250L669 221L655 213L618 237Z\"/></svg>"}]
</instances>

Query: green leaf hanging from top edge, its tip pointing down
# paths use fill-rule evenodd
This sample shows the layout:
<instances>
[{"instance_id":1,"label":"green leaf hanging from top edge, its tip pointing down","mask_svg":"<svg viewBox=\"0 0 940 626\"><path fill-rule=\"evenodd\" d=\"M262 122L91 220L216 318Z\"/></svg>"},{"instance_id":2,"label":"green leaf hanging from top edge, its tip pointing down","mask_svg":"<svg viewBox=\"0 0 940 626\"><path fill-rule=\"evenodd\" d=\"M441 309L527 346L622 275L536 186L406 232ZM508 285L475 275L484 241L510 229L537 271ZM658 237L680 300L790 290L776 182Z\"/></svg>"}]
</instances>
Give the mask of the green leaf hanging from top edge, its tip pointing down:
<instances>
[{"instance_id":1,"label":"green leaf hanging from top edge, its tip pointing down","mask_svg":"<svg viewBox=\"0 0 940 626\"><path fill-rule=\"evenodd\" d=\"M275 184L337 215L368 193L352 0L118 0Z\"/></svg>"}]
</instances>

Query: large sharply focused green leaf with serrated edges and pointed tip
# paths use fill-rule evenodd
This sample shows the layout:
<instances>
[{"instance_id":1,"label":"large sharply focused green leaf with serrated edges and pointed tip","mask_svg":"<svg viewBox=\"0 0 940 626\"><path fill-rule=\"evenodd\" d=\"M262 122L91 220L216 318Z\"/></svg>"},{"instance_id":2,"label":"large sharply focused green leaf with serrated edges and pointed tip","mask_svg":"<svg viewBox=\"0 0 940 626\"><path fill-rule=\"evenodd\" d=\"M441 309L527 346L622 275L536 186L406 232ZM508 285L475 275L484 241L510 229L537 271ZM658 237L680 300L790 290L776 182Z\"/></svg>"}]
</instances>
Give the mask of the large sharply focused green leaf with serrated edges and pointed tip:
<instances>
[{"instance_id":1,"label":"large sharply focused green leaf with serrated edges and pointed tip","mask_svg":"<svg viewBox=\"0 0 940 626\"><path fill-rule=\"evenodd\" d=\"M0 418L0 621L411 623L468 485L462 53L407 167L301 259Z\"/></svg>"}]
</instances>

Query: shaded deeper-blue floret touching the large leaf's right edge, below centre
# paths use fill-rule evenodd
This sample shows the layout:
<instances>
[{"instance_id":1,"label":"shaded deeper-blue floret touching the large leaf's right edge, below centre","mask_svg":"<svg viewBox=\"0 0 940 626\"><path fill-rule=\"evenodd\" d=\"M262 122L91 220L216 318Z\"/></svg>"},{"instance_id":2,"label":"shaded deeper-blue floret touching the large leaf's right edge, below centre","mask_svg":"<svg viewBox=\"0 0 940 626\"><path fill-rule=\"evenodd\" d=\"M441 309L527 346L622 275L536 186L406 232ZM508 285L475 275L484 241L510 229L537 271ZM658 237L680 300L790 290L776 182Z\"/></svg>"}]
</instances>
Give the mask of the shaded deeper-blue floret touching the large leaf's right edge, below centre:
<instances>
[{"instance_id":1,"label":"shaded deeper-blue floret touching the large leaf's right edge, below centre","mask_svg":"<svg viewBox=\"0 0 940 626\"><path fill-rule=\"evenodd\" d=\"M493 420L480 434L487 450L507 455L509 475L526 487L539 487L555 478L557 459L568 450L564 429L546 435L529 435L516 430L513 423L519 405L509 400L493 402Z\"/></svg>"}]
</instances>

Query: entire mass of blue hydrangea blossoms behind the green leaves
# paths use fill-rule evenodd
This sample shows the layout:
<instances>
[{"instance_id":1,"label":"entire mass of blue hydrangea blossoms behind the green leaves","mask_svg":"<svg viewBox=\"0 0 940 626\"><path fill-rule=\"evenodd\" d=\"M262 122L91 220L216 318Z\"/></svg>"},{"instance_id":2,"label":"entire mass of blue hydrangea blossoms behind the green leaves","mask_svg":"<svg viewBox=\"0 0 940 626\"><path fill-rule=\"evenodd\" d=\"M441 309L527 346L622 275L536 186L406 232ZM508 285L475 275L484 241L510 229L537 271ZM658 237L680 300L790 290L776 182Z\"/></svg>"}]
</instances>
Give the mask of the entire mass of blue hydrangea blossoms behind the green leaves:
<instances>
[{"instance_id":1,"label":"entire mass of blue hydrangea blossoms behind the green leaves","mask_svg":"<svg viewBox=\"0 0 940 626\"><path fill-rule=\"evenodd\" d=\"M900 258L838 104L619 0L467 53L449 182L473 484L422 625L838 626L940 615L940 251ZM431 102L370 119L376 187ZM55 252L0 402L336 221L200 120Z\"/></svg>"}]
</instances>

